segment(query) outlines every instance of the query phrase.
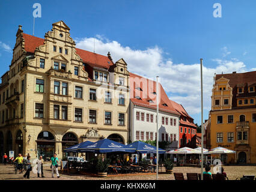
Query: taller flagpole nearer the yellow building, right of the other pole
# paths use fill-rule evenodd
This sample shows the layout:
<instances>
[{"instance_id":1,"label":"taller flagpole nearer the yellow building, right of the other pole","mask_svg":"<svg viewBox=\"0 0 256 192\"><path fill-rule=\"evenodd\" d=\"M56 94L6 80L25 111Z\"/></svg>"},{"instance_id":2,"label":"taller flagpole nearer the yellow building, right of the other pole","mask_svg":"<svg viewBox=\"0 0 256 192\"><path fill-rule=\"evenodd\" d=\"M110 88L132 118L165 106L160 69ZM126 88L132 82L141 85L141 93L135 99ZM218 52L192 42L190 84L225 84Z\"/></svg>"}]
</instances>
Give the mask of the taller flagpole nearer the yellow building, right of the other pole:
<instances>
[{"instance_id":1,"label":"taller flagpole nearer the yellow building, right of the other pole","mask_svg":"<svg viewBox=\"0 0 256 192\"><path fill-rule=\"evenodd\" d=\"M201 68L201 180L203 180L204 169L204 125L203 125L203 59L200 59Z\"/></svg>"}]
</instances>

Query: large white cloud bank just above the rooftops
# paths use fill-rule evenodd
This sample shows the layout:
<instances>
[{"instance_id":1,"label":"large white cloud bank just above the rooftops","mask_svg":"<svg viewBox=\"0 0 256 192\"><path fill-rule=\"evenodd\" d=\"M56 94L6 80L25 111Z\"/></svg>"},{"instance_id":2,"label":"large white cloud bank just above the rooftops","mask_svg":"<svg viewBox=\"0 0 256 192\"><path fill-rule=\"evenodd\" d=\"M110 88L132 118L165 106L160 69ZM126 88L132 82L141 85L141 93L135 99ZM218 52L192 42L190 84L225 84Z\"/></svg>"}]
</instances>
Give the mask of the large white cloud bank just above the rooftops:
<instances>
[{"instance_id":1,"label":"large white cloud bank just above the rooftops","mask_svg":"<svg viewBox=\"0 0 256 192\"><path fill-rule=\"evenodd\" d=\"M163 88L168 95L172 95L171 100L181 103L190 115L200 113L200 64L174 64L172 59L164 57L168 54L158 46L136 50L124 47L117 41L105 40L102 36L100 38L95 39L96 53L107 55L110 52L113 61L123 58L128 64L128 70L141 76L154 79L159 75ZM76 46L93 51L94 38L79 39ZM216 67L203 67L204 109L207 110L211 107L214 74L246 71L245 64L238 59L213 61Z\"/></svg>"}]
</instances>

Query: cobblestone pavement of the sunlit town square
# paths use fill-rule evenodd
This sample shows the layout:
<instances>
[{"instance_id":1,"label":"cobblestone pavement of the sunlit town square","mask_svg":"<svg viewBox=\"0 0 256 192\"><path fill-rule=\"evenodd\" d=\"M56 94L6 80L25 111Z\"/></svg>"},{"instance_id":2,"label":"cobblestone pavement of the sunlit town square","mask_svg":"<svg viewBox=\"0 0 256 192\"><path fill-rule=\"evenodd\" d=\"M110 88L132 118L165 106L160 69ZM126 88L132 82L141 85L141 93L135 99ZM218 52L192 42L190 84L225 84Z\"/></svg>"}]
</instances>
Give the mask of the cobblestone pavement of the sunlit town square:
<instances>
[{"instance_id":1,"label":"cobblestone pavement of the sunlit town square","mask_svg":"<svg viewBox=\"0 0 256 192\"><path fill-rule=\"evenodd\" d=\"M234 180L240 178L243 175L256 175L256 166L224 166L225 172L227 173L228 179ZM211 170L212 171L212 170ZM201 169L198 167L174 167L173 172L183 173L186 179L186 173L200 173ZM24 174L24 172L23 172ZM15 174L14 167L11 165L4 166L0 164L0 180L28 180L23 178L23 174ZM30 173L30 180L155 180L156 173L150 173L149 175L143 175L141 173L127 174L127 175L109 175L107 178L97 178L94 176L79 175L72 173L59 173L61 176L52 178L49 165L44 167L45 178L37 178L37 173ZM173 174L159 173L160 180L174 180Z\"/></svg>"}]
</instances>

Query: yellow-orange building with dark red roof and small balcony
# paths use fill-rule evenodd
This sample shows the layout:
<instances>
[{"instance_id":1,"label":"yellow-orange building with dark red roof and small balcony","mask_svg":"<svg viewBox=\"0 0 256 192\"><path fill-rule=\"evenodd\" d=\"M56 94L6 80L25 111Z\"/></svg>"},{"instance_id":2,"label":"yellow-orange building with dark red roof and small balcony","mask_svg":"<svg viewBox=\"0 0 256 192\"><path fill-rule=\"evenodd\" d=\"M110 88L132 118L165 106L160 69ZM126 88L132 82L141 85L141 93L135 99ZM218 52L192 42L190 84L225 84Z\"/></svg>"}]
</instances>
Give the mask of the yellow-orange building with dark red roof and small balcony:
<instances>
[{"instance_id":1,"label":"yellow-orange building with dark red roof and small balcony","mask_svg":"<svg viewBox=\"0 0 256 192\"><path fill-rule=\"evenodd\" d=\"M256 163L255 86L256 71L215 77L207 140L210 148L221 146L236 151L222 155L224 163Z\"/></svg>"}]
</instances>

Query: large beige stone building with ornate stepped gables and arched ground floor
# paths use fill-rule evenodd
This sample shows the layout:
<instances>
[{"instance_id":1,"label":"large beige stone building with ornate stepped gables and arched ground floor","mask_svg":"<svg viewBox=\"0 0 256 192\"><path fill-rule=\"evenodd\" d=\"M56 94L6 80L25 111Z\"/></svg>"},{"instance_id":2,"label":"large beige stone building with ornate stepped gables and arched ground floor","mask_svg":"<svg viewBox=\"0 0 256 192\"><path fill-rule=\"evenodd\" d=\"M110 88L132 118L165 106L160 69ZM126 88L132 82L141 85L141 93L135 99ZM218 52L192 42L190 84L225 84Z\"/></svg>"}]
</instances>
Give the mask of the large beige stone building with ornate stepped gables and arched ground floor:
<instances>
[{"instance_id":1,"label":"large beige stone building with ornate stepped gables and arched ground floor","mask_svg":"<svg viewBox=\"0 0 256 192\"><path fill-rule=\"evenodd\" d=\"M100 138L129 140L129 72L123 59L77 49L70 28L52 24L44 38L16 34L0 86L0 153L45 160Z\"/></svg>"}]
</instances>

